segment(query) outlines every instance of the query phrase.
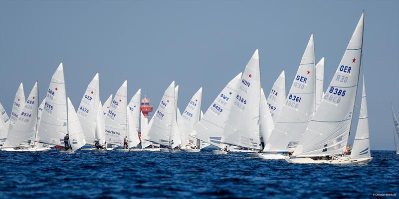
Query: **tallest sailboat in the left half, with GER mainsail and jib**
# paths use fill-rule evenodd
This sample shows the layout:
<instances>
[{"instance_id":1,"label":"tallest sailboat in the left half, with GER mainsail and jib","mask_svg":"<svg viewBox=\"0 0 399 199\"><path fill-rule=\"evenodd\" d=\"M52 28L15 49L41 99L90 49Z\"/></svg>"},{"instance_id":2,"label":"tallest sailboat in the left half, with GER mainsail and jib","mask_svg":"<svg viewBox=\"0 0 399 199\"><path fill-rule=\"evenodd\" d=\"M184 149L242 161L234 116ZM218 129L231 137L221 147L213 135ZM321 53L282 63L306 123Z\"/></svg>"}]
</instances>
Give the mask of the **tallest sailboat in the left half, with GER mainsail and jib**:
<instances>
[{"instance_id":1,"label":"tallest sailboat in the left half, with GER mainsail and jib","mask_svg":"<svg viewBox=\"0 0 399 199\"><path fill-rule=\"evenodd\" d=\"M63 151L66 153L73 153L86 144L79 118L66 97L62 63L51 77L43 110L36 142L65 148L64 137L69 134L72 150Z\"/></svg>"}]
</instances>

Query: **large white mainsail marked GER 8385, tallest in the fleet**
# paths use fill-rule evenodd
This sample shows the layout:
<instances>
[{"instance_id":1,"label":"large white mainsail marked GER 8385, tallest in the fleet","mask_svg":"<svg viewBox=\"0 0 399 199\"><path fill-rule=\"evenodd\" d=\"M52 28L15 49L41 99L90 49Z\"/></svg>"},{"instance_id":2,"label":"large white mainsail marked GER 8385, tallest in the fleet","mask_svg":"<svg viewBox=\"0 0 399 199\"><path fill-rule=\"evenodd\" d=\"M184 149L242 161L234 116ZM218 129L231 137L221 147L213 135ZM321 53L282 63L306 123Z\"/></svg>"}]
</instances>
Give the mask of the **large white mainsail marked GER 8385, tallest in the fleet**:
<instances>
[{"instance_id":1,"label":"large white mainsail marked GER 8385, tallest in the fleet","mask_svg":"<svg viewBox=\"0 0 399 199\"><path fill-rule=\"evenodd\" d=\"M328 156L346 150L362 59L363 19L364 13L294 156Z\"/></svg>"}]
</instances>

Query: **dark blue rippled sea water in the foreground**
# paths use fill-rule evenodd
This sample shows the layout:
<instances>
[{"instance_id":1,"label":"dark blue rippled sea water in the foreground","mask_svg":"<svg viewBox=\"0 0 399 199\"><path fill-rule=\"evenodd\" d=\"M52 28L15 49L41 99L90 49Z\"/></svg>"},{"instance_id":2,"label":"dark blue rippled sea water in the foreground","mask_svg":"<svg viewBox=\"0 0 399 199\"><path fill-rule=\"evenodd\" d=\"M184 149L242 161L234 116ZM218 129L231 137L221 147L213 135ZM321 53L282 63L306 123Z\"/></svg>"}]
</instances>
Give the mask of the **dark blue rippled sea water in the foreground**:
<instances>
[{"instance_id":1,"label":"dark blue rippled sea water in the foreground","mask_svg":"<svg viewBox=\"0 0 399 199\"><path fill-rule=\"evenodd\" d=\"M399 155L363 166L295 165L245 153L0 151L0 198L369 198L399 196Z\"/></svg>"}]
</instances>

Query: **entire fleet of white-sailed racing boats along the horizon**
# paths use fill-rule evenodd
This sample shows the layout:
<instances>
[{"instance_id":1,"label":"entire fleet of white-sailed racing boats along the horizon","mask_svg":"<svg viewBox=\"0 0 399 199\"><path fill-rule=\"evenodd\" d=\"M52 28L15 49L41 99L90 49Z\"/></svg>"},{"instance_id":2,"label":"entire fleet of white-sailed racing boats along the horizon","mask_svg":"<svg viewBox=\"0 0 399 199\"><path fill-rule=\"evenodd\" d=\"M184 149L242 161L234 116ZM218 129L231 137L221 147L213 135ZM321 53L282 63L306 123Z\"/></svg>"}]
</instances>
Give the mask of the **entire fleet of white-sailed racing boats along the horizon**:
<instances>
[{"instance_id":1,"label":"entire fleet of white-sailed racing boats along the horizon","mask_svg":"<svg viewBox=\"0 0 399 199\"><path fill-rule=\"evenodd\" d=\"M205 113L201 111L202 88L181 112L179 85L173 81L150 121L140 110L141 89L127 100L127 80L115 96L101 103L98 73L75 110L61 63L40 104L37 82L26 100L20 83L9 117L0 103L0 150L47 151L55 146L62 153L74 153L87 145L86 150L98 151L199 152L212 145L218 148L214 154L250 151L254 157L295 164L366 164L373 158L364 77L355 141L350 155L346 153L363 31L364 13L325 92L325 58L315 64L312 34L288 95L284 71L265 95L255 50L244 71L228 82ZM392 114L399 154L399 124L393 107Z\"/></svg>"}]
</instances>

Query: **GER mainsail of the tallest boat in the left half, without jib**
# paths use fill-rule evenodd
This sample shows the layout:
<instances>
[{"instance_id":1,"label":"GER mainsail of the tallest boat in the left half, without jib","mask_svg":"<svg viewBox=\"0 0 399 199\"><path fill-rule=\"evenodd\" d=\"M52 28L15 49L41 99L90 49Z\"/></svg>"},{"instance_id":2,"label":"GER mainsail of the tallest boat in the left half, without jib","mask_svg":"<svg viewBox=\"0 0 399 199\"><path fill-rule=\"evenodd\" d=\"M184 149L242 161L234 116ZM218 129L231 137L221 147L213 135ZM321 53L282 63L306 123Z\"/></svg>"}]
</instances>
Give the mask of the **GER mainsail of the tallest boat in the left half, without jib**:
<instances>
[{"instance_id":1,"label":"GER mainsail of the tallest boat in the left half, without jib","mask_svg":"<svg viewBox=\"0 0 399 199\"><path fill-rule=\"evenodd\" d=\"M65 147L64 136L68 132L64 70L58 66L47 90L44 108L37 131L37 141Z\"/></svg>"}]
</instances>

